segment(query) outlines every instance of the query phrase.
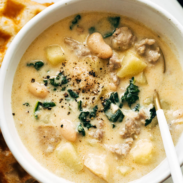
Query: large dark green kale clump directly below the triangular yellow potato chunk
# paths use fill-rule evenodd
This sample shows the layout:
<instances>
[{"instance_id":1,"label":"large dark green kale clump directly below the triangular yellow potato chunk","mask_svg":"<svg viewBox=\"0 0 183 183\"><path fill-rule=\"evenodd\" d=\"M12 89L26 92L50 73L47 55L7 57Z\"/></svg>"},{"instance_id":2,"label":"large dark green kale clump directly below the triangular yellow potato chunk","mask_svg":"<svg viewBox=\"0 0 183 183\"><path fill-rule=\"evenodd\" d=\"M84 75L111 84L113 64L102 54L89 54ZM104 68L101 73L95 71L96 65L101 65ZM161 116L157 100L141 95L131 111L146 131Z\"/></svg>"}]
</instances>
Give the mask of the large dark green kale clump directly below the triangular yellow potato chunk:
<instances>
[{"instance_id":1,"label":"large dark green kale clump directly below the triangular yellow potato chunk","mask_svg":"<svg viewBox=\"0 0 183 183\"><path fill-rule=\"evenodd\" d=\"M124 96L121 98L122 103L127 102L129 107L134 104L138 99L140 90L138 86L134 85L134 77L130 80L130 85L127 87Z\"/></svg>"}]
</instances>

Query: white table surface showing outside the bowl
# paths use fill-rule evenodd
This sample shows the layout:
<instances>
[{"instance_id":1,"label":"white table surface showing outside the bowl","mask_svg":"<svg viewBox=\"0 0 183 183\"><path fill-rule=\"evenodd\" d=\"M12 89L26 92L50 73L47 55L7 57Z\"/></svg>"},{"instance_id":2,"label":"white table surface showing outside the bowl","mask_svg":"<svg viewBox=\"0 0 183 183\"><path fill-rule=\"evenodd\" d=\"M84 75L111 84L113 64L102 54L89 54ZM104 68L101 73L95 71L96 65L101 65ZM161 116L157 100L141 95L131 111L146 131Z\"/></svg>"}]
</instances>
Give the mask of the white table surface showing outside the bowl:
<instances>
[{"instance_id":1,"label":"white table surface showing outside the bowl","mask_svg":"<svg viewBox=\"0 0 183 183\"><path fill-rule=\"evenodd\" d=\"M61 0L34 0L34 1L43 3L43 2L58 2ZM159 6L163 7L183 25L183 9L176 0L147 0L147 1L152 1L158 4ZM182 172L183 172L183 167L182 167ZM163 183L173 183L173 181L170 177Z\"/></svg>"}]
</instances>

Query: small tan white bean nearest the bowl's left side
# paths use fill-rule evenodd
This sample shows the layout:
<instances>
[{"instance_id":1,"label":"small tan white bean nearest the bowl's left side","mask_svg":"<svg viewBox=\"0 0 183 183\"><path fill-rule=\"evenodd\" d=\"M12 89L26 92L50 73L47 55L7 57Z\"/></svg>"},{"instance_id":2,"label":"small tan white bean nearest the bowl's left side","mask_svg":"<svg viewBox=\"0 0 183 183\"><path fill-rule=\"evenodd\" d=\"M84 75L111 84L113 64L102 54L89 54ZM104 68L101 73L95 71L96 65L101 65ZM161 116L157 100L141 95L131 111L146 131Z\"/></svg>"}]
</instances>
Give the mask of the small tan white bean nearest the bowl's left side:
<instances>
[{"instance_id":1,"label":"small tan white bean nearest the bowl's left side","mask_svg":"<svg viewBox=\"0 0 183 183\"><path fill-rule=\"evenodd\" d=\"M29 85L29 91L34 96L39 97L39 98L45 98L48 95L48 91L47 91L46 87L37 82L31 83Z\"/></svg>"}]
</instances>

